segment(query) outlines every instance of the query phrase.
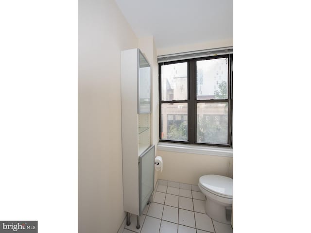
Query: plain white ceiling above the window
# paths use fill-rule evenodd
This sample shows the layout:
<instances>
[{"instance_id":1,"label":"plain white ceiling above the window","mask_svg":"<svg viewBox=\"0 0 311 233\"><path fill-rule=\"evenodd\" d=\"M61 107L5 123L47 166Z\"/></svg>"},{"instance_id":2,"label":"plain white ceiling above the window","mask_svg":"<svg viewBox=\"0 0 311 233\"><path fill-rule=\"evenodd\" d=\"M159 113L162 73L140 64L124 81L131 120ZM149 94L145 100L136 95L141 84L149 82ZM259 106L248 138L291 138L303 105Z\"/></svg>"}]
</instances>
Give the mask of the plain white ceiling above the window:
<instances>
[{"instance_id":1,"label":"plain white ceiling above the window","mask_svg":"<svg viewBox=\"0 0 311 233\"><path fill-rule=\"evenodd\" d=\"M233 0L115 0L138 37L156 48L233 38Z\"/></svg>"}]
</instances>

